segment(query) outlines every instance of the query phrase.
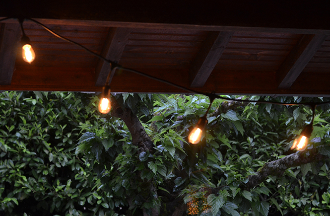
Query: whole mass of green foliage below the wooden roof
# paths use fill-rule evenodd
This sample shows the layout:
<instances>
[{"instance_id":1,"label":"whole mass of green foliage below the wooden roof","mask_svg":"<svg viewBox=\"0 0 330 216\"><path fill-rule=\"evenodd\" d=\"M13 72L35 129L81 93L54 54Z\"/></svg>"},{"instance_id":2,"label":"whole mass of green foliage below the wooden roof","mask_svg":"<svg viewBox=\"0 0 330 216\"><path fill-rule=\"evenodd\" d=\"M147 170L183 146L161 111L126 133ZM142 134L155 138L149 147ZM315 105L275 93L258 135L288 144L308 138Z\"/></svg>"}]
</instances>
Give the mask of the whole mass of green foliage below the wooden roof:
<instances>
[{"instance_id":1,"label":"whole mass of green foliage below the wooden roof","mask_svg":"<svg viewBox=\"0 0 330 216\"><path fill-rule=\"evenodd\" d=\"M204 115L207 97L115 97L140 118L152 149L132 144L121 119L100 115L97 97L1 94L0 215L131 216L156 209L166 216L175 209L170 203L196 200L203 216L329 216L329 161L287 169L250 191L243 187L265 162L293 153L292 140L311 121L310 108L250 103L222 112L228 102L217 99L206 133L200 144L192 145L187 136ZM330 156L328 111L326 105L317 109L314 142L308 148Z\"/></svg>"}]
</instances>

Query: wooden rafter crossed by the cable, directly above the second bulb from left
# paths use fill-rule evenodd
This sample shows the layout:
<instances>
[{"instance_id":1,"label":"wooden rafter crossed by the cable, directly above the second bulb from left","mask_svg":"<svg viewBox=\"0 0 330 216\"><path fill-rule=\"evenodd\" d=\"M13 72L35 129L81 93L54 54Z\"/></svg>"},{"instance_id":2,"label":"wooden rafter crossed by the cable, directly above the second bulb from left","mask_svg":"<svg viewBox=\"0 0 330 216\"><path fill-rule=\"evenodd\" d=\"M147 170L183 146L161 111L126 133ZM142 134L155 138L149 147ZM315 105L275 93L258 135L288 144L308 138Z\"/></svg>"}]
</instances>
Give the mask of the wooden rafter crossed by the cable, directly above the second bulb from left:
<instances>
[{"instance_id":1,"label":"wooden rafter crossed by the cable, directly above the second bulb from left","mask_svg":"<svg viewBox=\"0 0 330 216\"><path fill-rule=\"evenodd\" d=\"M119 62L130 33L130 28L110 28L101 55L111 61ZM95 86L103 86L106 83L106 79L110 70L111 67L108 63L103 60L98 61L95 69L97 77ZM114 72L111 73L109 80L110 83L113 75Z\"/></svg>"}]
</instances>

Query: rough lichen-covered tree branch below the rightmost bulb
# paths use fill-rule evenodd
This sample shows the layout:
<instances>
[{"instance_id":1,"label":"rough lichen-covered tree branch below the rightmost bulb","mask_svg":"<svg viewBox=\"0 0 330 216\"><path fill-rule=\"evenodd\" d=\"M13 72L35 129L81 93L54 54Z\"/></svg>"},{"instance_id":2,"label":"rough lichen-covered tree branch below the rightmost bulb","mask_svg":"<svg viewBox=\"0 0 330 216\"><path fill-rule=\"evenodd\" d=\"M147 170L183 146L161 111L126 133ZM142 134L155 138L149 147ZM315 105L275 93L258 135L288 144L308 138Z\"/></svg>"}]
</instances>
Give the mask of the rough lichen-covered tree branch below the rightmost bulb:
<instances>
[{"instance_id":1,"label":"rough lichen-covered tree branch below the rightmost bulb","mask_svg":"<svg viewBox=\"0 0 330 216\"><path fill-rule=\"evenodd\" d=\"M269 175L281 176L284 171L290 167L299 166L311 162L318 162L324 159L329 159L329 157L318 153L318 150L313 148L306 152L296 152L282 157L281 159L267 162L257 172L256 175L250 175L248 177L249 181L245 185L245 189L249 190L259 185Z\"/></svg>"}]
</instances>

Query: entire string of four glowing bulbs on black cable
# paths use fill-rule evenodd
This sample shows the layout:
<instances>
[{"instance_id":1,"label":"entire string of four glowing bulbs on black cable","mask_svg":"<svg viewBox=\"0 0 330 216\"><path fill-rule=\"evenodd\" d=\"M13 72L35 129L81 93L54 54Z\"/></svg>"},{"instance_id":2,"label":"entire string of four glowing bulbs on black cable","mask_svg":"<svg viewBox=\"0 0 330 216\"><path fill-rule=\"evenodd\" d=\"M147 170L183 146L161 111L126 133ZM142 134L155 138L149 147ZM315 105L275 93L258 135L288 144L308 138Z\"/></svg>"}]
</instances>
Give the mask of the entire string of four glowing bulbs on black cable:
<instances>
[{"instance_id":1,"label":"entire string of four glowing bulbs on black cable","mask_svg":"<svg viewBox=\"0 0 330 216\"><path fill-rule=\"evenodd\" d=\"M3 18L3 19L0 19L0 21L6 20L6 19L9 19L9 18L10 17ZM32 49L30 39L24 33L24 29L23 29L23 25L22 25L23 20L24 19L19 19L20 26L21 26L21 29L22 29L22 39L21 39L21 42L23 44L23 46L22 46L22 55L23 55L23 60L25 62L31 63L35 59L35 53L34 53L34 51ZM65 41L67 41L69 43L75 44L75 45L79 46L80 48L84 49L85 51L89 52L90 54L92 54L92 55L94 55L94 56L96 56L96 57L104 60L105 62L109 63L112 66L112 70L118 68L118 69L121 69L121 70L134 72L136 74L139 74L139 75L142 75L142 76L145 76L145 77L148 77L148 78L151 78L151 79L154 79L154 80L157 80L157 81L160 81L160 82L163 82L163 83L172 85L174 87L180 88L180 89L185 90L187 92L191 92L191 93L195 93L195 94L203 94L203 95L208 96L210 98L210 101L211 102L210 102L210 105L209 105L209 107L208 107L208 109L206 111L206 114L199 119L197 126L192 131L191 135L189 136L189 141L192 144L197 144L200 141L201 135L203 133L203 130L205 129L205 126L207 124L206 115L208 113L208 110L209 110L209 108L211 106L212 101L215 98L217 98L217 99L223 99L223 100L227 100L227 101L242 102L242 103L243 102L249 102L249 103L251 102L251 103L264 103L264 104L276 104L276 105L287 105L287 106L289 106L289 105L292 105L292 106L310 105L309 103L279 103L279 102L270 102L270 101L254 101L254 100L231 99L231 98L221 97L221 96L216 95L216 94L199 92L199 91L196 91L196 90L193 90L193 89L190 89L190 88L186 88L184 86L181 86L181 85L178 85L178 84L169 82L169 81L167 81L165 79L157 78L157 77L154 77L154 76L151 76L151 75L148 75L146 73L139 72L139 71L136 71L136 70L133 70L133 69L130 69L130 68L122 67L117 62L108 60L108 59L104 58L103 56L101 56L101 55L99 55L99 54L97 54L97 53L89 50L88 48L84 47L83 45L78 44L78 43L76 43L76 42L74 42L74 41L72 41L70 39L67 39L66 37L63 37L63 36L55 33L53 30L51 30L50 28L48 28L44 24L38 22L37 20L31 19L31 18L26 18L26 20L30 20L30 21L32 21L34 23L39 24L40 26L42 26L43 28L45 28L47 31L49 31L50 33L52 33L56 37L61 38L61 39L65 40ZM102 99L100 101L100 104L99 104L99 110L100 110L101 113L108 113L110 111L110 109L111 109L109 77L110 77L110 72L109 72L108 77L107 77L106 85L103 86L103 88L102 88L102 98L105 98L105 99ZM314 104L313 120L314 120L315 107L317 105L329 104L329 103L330 102L321 102L321 103L315 103ZM309 141L309 138L310 138L310 136L312 134L312 131L313 131L312 124L313 124L313 121L312 121L312 123L310 125L307 125L305 127L305 129L302 131L300 137L298 139L296 139L296 141L293 143L293 145L291 147L292 149L293 148L296 148L297 150L303 150L303 149L306 148L307 143Z\"/></svg>"}]
</instances>

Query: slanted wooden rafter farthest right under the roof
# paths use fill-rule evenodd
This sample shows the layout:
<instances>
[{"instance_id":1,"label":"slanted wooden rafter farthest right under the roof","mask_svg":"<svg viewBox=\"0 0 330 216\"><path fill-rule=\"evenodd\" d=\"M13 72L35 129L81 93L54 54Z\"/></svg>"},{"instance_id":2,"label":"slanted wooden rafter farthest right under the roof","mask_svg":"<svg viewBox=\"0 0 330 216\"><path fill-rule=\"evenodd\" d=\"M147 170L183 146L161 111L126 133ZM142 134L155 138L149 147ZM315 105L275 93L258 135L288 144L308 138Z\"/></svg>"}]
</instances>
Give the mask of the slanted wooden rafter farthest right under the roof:
<instances>
[{"instance_id":1,"label":"slanted wooden rafter farthest right under the roof","mask_svg":"<svg viewBox=\"0 0 330 216\"><path fill-rule=\"evenodd\" d=\"M328 36L304 35L276 72L278 88L290 88Z\"/></svg>"}]
</instances>

